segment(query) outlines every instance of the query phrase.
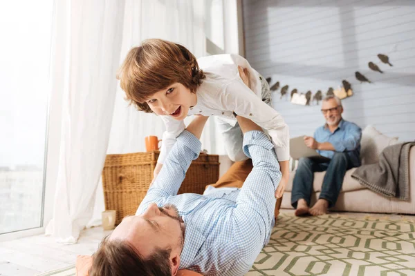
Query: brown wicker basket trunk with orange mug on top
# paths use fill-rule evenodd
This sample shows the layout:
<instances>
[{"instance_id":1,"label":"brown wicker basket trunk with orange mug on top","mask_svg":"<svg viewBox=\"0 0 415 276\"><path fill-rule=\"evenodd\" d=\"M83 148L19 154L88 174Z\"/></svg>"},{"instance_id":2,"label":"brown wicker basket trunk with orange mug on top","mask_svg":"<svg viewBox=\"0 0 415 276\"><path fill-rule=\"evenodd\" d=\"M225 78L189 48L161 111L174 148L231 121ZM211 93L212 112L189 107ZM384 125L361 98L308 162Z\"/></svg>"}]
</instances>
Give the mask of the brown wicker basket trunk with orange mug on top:
<instances>
[{"instance_id":1,"label":"brown wicker basket trunk with orange mug on top","mask_svg":"<svg viewBox=\"0 0 415 276\"><path fill-rule=\"evenodd\" d=\"M123 217L136 213L153 179L158 154L153 151L107 155L102 170L105 209L117 210L116 224L120 224ZM178 193L202 194L206 185L218 179L219 155L201 153L187 170Z\"/></svg>"}]
</instances>

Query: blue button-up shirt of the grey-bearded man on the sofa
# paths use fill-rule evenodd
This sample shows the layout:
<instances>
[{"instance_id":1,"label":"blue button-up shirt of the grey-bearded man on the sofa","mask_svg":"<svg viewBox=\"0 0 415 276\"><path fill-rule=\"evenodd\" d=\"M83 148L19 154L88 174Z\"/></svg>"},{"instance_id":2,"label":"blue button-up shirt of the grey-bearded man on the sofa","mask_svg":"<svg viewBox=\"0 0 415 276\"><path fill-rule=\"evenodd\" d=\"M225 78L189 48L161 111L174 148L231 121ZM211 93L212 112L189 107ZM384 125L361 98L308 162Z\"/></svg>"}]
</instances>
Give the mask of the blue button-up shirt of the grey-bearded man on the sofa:
<instances>
[{"instance_id":1,"label":"blue button-up shirt of the grey-bearded man on the sofa","mask_svg":"<svg viewBox=\"0 0 415 276\"><path fill-rule=\"evenodd\" d=\"M319 143L329 142L335 148L335 152L347 152L353 167L360 166L360 139L362 129L358 125L342 119L338 128L331 132L329 127L324 125L314 132L314 139ZM333 158L333 150L317 150L317 152L328 158Z\"/></svg>"}]
</instances>

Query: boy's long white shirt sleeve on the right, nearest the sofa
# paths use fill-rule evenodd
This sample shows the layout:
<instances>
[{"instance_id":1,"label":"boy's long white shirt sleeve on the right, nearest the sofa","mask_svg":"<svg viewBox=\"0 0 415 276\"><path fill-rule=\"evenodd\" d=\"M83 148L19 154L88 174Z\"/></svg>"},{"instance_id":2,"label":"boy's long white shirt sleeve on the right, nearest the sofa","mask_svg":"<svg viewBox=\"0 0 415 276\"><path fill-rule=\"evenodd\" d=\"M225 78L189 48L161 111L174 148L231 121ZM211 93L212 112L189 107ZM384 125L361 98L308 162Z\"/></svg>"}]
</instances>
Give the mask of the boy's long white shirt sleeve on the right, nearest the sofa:
<instances>
[{"instance_id":1,"label":"boy's long white shirt sleeve on the right, nearest the sofa","mask_svg":"<svg viewBox=\"0 0 415 276\"><path fill-rule=\"evenodd\" d=\"M278 161L290 159L290 132L282 115L264 103L241 79L229 83L219 101L227 110L254 121L268 131Z\"/></svg>"}]
</instances>

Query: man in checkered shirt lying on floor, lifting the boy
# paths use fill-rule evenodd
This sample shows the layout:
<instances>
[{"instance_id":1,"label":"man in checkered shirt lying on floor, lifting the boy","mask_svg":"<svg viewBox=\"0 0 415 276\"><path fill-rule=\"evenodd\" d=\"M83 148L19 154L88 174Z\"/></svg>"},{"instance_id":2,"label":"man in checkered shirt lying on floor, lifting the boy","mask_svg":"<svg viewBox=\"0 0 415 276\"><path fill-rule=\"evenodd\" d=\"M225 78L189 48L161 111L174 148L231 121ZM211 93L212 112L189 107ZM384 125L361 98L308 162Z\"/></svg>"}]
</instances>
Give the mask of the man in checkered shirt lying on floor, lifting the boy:
<instances>
[{"instance_id":1,"label":"man in checkered shirt lying on floor, lifting the boy","mask_svg":"<svg viewBox=\"0 0 415 276\"><path fill-rule=\"evenodd\" d=\"M196 116L179 135L136 215L124 218L103 239L90 276L180 275L181 269L237 276L250 270L270 238L282 174L270 139L255 123L237 116L243 151L253 164L242 188L177 195L201 151L207 119Z\"/></svg>"}]
</instances>

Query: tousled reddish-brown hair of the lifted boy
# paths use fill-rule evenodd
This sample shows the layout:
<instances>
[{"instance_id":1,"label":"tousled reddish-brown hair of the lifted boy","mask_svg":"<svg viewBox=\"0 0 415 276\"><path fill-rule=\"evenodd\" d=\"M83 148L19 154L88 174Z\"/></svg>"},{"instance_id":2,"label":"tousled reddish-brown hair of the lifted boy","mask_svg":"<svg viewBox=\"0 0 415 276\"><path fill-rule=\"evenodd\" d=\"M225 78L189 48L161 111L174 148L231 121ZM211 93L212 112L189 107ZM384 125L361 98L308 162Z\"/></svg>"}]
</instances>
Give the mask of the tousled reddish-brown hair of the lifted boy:
<instances>
[{"instance_id":1,"label":"tousled reddish-brown hair of the lifted boy","mask_svg":"<svg viewBox=\"0 0 415 276\"><path fill-rule=\"evenodd\" d=\"M152 111L145 101L154 93L172 83L181 83L195 93L204 78L196 57L187 48L162 39L147 39L132 48L117 74L125 99L149 113Z\"/></svg>"}]
</instances>

